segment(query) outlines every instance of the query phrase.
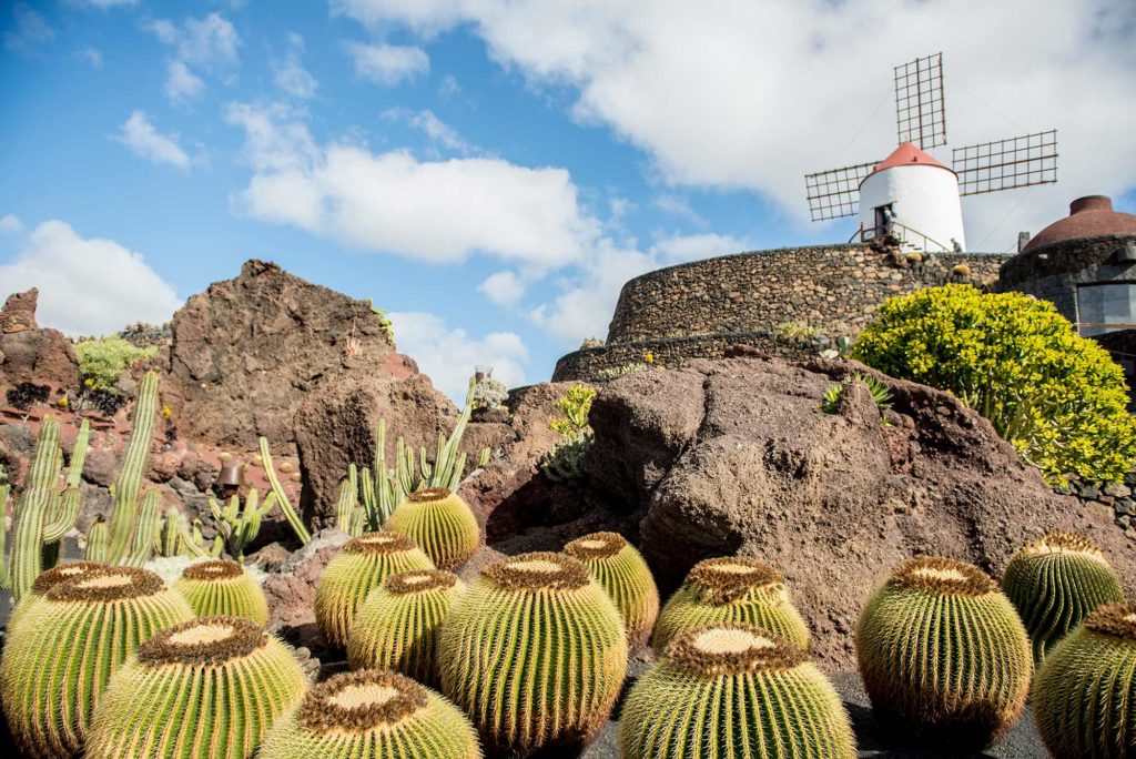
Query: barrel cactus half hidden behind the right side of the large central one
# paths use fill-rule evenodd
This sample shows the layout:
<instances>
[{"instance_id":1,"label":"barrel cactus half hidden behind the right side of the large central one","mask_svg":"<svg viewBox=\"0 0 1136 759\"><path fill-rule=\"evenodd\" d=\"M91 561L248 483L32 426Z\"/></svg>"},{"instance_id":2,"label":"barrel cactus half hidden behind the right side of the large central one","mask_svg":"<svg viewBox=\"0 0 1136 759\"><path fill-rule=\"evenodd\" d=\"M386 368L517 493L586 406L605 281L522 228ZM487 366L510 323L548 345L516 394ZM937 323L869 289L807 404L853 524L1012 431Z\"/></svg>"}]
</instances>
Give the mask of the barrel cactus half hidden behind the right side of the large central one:
<instances>
[{"instance_id":1,"label":"barrel cactus half hidden behind the right side of the large central one","mask_svg":"<svg viewBox=\"0 0 1136 759\"><path fill-rule=\"evenodd\" d=\"M616 602L628 645L646 643L659 617L659 589L635 547L616 533L592 533L566 544L565 553L579 559Z\"/></svg>"}]
</instances>

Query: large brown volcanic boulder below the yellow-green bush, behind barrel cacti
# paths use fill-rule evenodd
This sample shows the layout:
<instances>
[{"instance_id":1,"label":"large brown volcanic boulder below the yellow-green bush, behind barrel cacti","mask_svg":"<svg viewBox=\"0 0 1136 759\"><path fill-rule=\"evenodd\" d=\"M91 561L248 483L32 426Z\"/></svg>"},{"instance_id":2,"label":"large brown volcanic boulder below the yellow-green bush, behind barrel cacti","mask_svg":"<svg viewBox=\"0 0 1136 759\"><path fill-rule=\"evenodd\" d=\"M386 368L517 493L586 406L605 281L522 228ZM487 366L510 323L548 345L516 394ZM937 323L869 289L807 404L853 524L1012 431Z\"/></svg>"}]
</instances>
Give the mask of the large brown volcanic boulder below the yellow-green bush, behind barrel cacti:
<instances>
[{"instance_id":1,"label":"large brown volcanic boulder below the yellow-green bush, behind barrel cacti","mask_svg":"<svg viewBox=\"0 0 1136 759\"><path fill-rule=\"evenodd\" d=\"M820 410L852 372L892 389L884 419L859 383L836 414ZM788 581L819 659L836 668L854 667L852 633L869 593L917 553L1000 576L1028 540L1074 529L1136 578L1136 543L1111 514L1054 494L954 397L853 361L737 358L637 372L602 386L592 426L592 487L641 517L641 550L663 589L707 557L767 561Z\"/></svg>"}]
</instances>

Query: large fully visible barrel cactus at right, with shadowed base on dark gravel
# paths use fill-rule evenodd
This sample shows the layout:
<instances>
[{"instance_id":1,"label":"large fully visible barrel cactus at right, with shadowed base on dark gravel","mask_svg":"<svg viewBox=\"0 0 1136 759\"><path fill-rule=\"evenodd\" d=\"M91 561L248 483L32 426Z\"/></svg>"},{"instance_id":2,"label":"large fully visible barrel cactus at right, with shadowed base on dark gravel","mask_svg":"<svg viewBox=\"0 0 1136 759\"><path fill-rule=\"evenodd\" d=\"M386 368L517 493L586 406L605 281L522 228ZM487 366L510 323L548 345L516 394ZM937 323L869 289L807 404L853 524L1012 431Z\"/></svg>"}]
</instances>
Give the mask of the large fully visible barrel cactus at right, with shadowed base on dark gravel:
<instances>
[{"instance_id":1,"label":"large fully visible barrel cactus at right, with shadowed base on dark gravel","mask_svg":"<svg viewBox=\"0 0 1136 759\"><path fill-rule=\"evenodd\" d=\"M903 732L980 749L1026 704L1026 628L997 584L963 561L901 564L868 600L855 644L877 722Z\"/></svg>"}]
</instances>

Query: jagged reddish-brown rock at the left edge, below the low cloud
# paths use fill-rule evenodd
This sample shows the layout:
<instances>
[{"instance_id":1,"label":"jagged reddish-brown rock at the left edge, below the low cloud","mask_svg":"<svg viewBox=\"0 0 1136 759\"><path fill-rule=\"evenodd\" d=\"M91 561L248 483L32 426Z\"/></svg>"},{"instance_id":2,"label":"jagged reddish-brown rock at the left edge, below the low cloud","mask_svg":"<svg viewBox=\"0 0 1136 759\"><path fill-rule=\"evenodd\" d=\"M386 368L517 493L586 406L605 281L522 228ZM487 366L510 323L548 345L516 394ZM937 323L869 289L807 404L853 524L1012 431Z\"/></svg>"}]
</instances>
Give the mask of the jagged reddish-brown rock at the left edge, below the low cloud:
<instances>
[{"instance_id":1,"label":"jagged reddish-brown rock at the left edge, below the low cloud","mask_svg":"<svg viewBox=\"0 0 1136 759\"><path fill-rule=\"evenodd\" d=\"M23 383L52 390L78 386L78 361L70 341L35 322L35 287L8 297L0 309L0 392ZM0 395L2 398L2 395Z\"/></svg>"}]
</instances>

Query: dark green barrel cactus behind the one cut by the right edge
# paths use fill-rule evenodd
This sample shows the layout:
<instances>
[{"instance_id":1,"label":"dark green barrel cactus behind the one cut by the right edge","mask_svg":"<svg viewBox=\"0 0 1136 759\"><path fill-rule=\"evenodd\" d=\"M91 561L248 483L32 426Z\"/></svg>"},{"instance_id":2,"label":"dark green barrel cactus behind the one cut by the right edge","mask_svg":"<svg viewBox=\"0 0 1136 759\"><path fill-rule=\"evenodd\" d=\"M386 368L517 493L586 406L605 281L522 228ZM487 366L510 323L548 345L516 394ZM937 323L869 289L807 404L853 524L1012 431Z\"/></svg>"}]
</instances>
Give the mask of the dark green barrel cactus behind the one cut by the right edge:
<instances>
[{"instance_id":1,"label":"dark green barrel cactus behind the one cut by the right edge","mask_svg":"<svg viewBox=\"0 0 1136 759\"><path fill-rule=\"evenodd\" d=\"M1104 552L1067 532L1051 532L1010 559L1002 590L1026 624L1036 661L1093 609L1125 600Z\"/></svg>"}]
</instances>

